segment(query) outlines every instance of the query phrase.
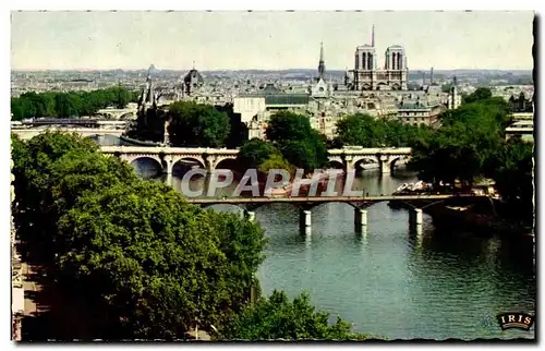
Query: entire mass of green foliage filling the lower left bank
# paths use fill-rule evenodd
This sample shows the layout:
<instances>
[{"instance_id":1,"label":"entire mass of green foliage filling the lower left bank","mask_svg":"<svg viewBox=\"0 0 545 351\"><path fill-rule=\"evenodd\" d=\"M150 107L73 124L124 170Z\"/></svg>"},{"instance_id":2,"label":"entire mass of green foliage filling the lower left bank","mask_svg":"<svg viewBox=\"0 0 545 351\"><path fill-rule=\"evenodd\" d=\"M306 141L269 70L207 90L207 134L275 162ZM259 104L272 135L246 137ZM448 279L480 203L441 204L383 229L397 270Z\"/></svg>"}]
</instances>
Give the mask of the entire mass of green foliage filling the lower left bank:
<instances>
[{"instance_id":1,"label":"entire mass of green foliage filling the lower left bank","mask_svg":"<svg viewBox=\"0 0 545 351\"><path fill-rule=\"evenodd\" d=\"M237 215L202 210L138 180L88 138L13 141L19 238L95 317L96 338L183 338L247 303L266 244Z\"/></svg>"}]
</instances>

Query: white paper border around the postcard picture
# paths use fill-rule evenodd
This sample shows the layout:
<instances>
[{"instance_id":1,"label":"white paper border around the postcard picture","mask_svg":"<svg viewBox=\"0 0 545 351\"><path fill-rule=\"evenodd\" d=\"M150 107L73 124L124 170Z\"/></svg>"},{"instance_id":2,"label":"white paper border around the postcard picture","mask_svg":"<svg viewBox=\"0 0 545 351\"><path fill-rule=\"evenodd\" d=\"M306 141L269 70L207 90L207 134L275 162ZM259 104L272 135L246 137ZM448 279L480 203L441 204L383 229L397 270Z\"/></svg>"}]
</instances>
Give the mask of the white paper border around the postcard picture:
<instances>
[{"instance_id":1,"label":"white paper border around the postcard picture","mask_svg":"<svg viewBox=\"0 0 545 351\"><path fill-rule=\"evenodd\" d=\"M12 2L12 7L16 7L17 10L40 10L40 9L48 9L48 10L66 10L66 9L71 9L71 10L89 10L90 8L94 9L94 10L112 10L112 9L117 9L117 10L247 10L247 9L252 9L252 10L277 10L277 11L281 11L281 10L347 10L347 11L350 11L350 10L354 10L354 9L363 9L365 8L366 11L370 11L370 10L436 10L436 9L443 9L443 10L465 10L465 9L472 9L472 10L505 10L505 9L509 9L509 10L537 10L537 12L542 12L540 11L543 7L543 1L537 1L537 0L517 0L517 1L474 1L474 0L457 0L457 1L445 1L445 2L437 2L437 1L426 1L426 0L413 0L413 1L403 1L403 0L390 0L390 1L387 1L387 2L383 2L383 1L347 1L347 0L336 0L336 1L324 1L324 0L314 0L314 1L300 1L300 2L294 2L293 0L276 0L276 1L266 1L266 2L257 2L257 1L252 1L252 0L245 0L245 1L228 1L228 2L225 2L225 1L220 1L220 0L215 0L215 1L210 1L210 0L201 0L201 1L195 1L195 2L179 2L179 1L160 1L160 0L155 0L155 1L137 1L137 0L133 0L131 2L124 2L124 1L106 1L106 0L95 0L92 2L92 5L87 5L87 2L76 2L76 1L62 1L62 0L55 0L55 1L47 1L47 2L40 2L40 1L16 1L16 2ZM9 259L9 255L10 255L10 251L9 251L9 244L8 244L8 233L9 233L9 213L10 213L10 205L9 205L9 202L8 202L8 198L9 198L9 186L8 186L8 183L9 183L9 179L10 179L10 175L8 173L8 168L9 168L9 159L10 159L10 143L9 143L9 137L10 137L10 134L9 134L9 130L10 130L10 126L9 126L9 113L10 113L10 107L9 107L9 100L8 100L8 97L9 97L9 90L10 90L10 21L9 21L9 16L10 16L10 10L8 9L3 9L4 7L8 5L8 1L2 1L2 19L5 20L5 21L1 21L0 22L0 27L1 27L1 48L3 49L3 56L2 56L2 59L3 59L3 66L4 69L0 71L0 74L1 74L1 89L2 89L2 96L3 98L0 100L0 104L1 104L1 108L2 108L2 111L3 111L3 118L0 119L0 123L1 126L0 126L0 131L2 131L2 133L4 133L2 137L0 137L0 159L2 161L2 169L4 171L1 171L0 172L0 184L4 184L3 186L0 186L0 198L2 201L0 201L0 206L1 206L1 210L0 210L0 216L1 216L1 230L0 232L3 233L3 245L2 245L2 250L1 250L1 253L2 253L2 262L4 262L4 265L2 265L2 267L4 267L3 269L1 269L1 275L2 277L0 277L1 281L4 282L5 285L8 285L8 281L11 281L11 278L10 278L10 269L8 268L9 265L8 265L8 259ZM385 9L385 7L388 7ZM543 13L543 12L542 12ZM541 24L541 26L543 27L545 24ZM540 46L543 47L543 37L540 37ZM540 75L540 82L542 82L542 77ZM543 97L543 86L541 86L541 90L540 90L540 96L538 96L538 100L540 101L545 101L542 97ZM543 104L543 102L542 102ZM540 111L541 112L541 111ZM538 114L541 116L541 113ZM544 122L545 123L545 122ZM542 130L542 123L540 123L540 131ZM543 132L542 132L543 133ZM536 144L536 147L540 147L541 146L541 141L538 144ZM540 147L541 149L541 147ZM542 158L542 157L540 157ZM537 165L542 166L543 165L543 161L540 159L537 161ZM543 169L542 167L540 167L540 173L543 174ZM544 190L542 189L540 191L540 194L542 194L544 192ZM542 214L542 210L540 210L540 215ZM543 223L542 223L543 226ZM536 235L538 235L538 233L536 233ZM540 241L540 247L538 247L538 252L540 253L543 253L544 252L544 247L543 247L543 241L545 240L541 240ZM543 262L545 259L543 259L543 254L541 255L542 259L538 259L538 263L540 263L540 267L538 267L538 271L542 271L542 267L543 267ZM538 296L538 304L537 306L541 306L541 303L543 303L543 299L542 299L542 290L538 289L538 292L540 292L540 296ZM11 348L14 348L14 343L9 341L11 339L11 318L9 317L11 315L11 310L9 307L9 301L10 301L10 294L11 293L11 287L10 289L8 289L8 287L5 287L4 289L2 289L2 301L3 303L0 304L0 308L2 310L2 312L0 313L0 315L2 316L0 318L1 320L1 325L0 325L0 332L2 334L2 338L1 338L1 343L2 343L2 350L4 350L4 347L11 349ZM540 311L538 311L540 312ZM395 316L391 316L391 317L395 317ZM540 319L540 313L537 313L537 320L541 320ZM542 328L542 324L540 322L536 323L536 326L538 328L538 330L541 331ZM541 337L543 337L543 334L542 332L538 332L538 335ZM97 344L99 347L107 347L109 349L114 349L114 350L121 350L122 348L126 348L126 347L133 347L133 344L131 346L121 346L121 344L117 344L117 346L107 346L107 344ZM57 349L57 348L60 348L61 346L59 344L48 344L47 347L49 348L53 348L53 349ZM74 346L63 346L63 347L68 347L69 349L75 349L76 347ZM93 346L82 346L82 347L93 347ZM171 344L171 347L180 347L180 346L177 346L177 344ZM189 346L189 344L184 344L183 346L184 348L196 348L195 346ZM206 347L204 346L205 348L209 348L209 347ZM230 346L230 348L237 348L238 349L239 346ZM244 348L246 349L261 349L262 344L249 344L249 346L245 346ZM296 348L296 344L281 344L282 348L287 348L287 349L293 349L293 348ZM331 349L340 349L342 346L332 346L332 344L324 344L324 346L312 346L313 348L314 347L318 347L318 348L331 348ZM367 349L378 349L379 346L374 346L374 344L363 344L363 346L355 346L358 348L361 348L361 347L364 347L364 348L367 348ZM384 346L382 346L384 347ZM441 348L447 348L447 349L455 349L457 346L443 346L443 344L433 344L432 346L433 348L438 348L438 347L441 347ZM469 346L468 349L479 349L481 348L482 346L481 344L472 344L472 346ZM498 346L494 346L495 348L497 348ZM156 344L150 344L150 346L142 346L142 348L144 349L156 349L157 346ZM203 346L199 346L199 348L203 348ZM403 344L403 346L396 346L396 348L399 348L399 349L409 349L409 348L420 348L419 344L414 344L414 346L408 346L408 344Z\"/></svg>"}]
</instances>

